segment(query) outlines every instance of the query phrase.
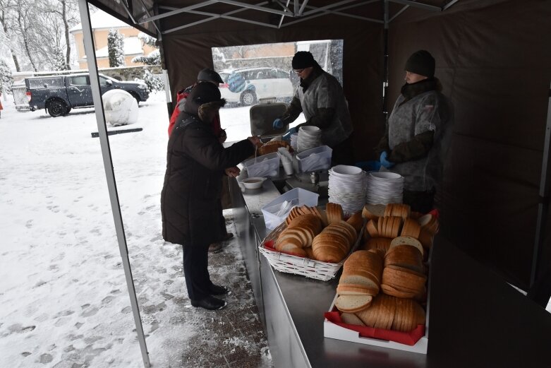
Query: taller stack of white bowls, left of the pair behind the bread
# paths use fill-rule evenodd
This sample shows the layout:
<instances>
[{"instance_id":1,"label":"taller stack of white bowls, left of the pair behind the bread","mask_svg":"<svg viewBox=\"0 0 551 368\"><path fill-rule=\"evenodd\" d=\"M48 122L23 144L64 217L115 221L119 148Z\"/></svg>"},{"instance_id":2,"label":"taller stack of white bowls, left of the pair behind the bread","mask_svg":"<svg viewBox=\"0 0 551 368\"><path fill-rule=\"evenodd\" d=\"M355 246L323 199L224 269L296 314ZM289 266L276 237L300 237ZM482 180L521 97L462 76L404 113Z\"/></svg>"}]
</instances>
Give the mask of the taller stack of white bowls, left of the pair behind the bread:
<instances>
[{"instance_id":1,"label":"taller stack of white bowls, left of the pair behind the bread","mask_svg":"<svg viewBox=\"0 0 551 368\"><path fill-rule=\"evenodd\" d=\"M339 203L346 215L365 204L366 175L356 166L337 165L329 169L329 202Z\"/></svg>"}]
</instances>

